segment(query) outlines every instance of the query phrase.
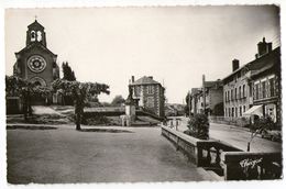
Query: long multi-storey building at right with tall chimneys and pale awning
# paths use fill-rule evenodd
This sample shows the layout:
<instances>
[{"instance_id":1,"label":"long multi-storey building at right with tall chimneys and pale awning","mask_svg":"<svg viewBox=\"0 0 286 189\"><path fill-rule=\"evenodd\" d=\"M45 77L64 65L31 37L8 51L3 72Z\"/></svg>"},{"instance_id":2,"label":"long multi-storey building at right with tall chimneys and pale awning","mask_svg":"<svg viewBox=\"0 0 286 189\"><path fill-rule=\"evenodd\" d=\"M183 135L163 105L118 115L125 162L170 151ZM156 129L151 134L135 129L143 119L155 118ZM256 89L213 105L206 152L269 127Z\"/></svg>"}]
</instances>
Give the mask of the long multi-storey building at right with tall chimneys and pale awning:
<instances>
[{"instance_id":1,"label":"long multi-storey building at right with tall chimneys and pale awning","mask_svg":"<svg viewBox=\"0 0 286 189\"><path fill-rule=\"evenodd\" d=\"M257 44L257 54L254 60L242 67L240 67L238 59L232 60L232 73L222 80L226 118L242 118L245 113L254 111L256 114L263 114L262 107L253 105L260 104L260 102L266 103L260 100L265 100L273 94L270 93L270 90L273 90L272 85L276 84L276 88L279 89L279 82L276 82L279 78L279 70L274 68L274 65L280 64L279 62L279 47L272 49L272 43L266 43L264 37ZM273 76L275 81L271 80ZM275 96L275 102L277 102L279 97Z\"/></svg>"}]
</instances>

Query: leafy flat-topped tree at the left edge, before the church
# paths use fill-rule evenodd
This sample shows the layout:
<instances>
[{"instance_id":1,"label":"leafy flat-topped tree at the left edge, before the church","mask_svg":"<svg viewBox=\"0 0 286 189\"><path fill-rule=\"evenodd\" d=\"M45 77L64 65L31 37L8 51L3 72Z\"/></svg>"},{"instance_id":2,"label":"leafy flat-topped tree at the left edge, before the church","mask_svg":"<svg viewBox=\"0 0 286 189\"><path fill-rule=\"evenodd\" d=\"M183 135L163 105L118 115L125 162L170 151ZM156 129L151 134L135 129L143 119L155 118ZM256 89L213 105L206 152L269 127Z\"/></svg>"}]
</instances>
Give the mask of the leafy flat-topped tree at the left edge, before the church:
<instances>
[{"instance_id":1,"label":"leafy flat-topped tree at the left edge, before the church","mask_svg":"<svg viewBox=\"0 0 286 189\"><path fill-rule=\"evenodd\" d=\"M20 97L23 101L24 120L32 115L32 99L35 96L47 98L51 88L38 86L18 76L6 76L6 97Z\"/></svg>"}]
</instances>

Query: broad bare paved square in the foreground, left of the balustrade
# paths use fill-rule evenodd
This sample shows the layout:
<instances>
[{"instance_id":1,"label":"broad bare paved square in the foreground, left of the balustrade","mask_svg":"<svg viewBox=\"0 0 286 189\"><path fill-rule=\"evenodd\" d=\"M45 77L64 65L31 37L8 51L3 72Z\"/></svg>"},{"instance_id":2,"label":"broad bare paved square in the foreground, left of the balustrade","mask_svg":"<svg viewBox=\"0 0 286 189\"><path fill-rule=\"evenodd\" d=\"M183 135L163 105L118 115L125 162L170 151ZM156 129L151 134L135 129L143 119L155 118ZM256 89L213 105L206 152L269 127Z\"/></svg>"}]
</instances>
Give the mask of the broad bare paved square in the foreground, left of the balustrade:
<instances>
[{"instance_id":1,"label":"broad bare paved square in the foreground, left of the balustrade","mask_svg":"<svg viewBox=\"0 0 286 189\"><path fill-rule=\"evenodd\" d=\"M122 127L121 127L122 129ZM176 152L160 127L132 133L8 130L11 184L211 180Z\"/></svg>"}]
</instances>

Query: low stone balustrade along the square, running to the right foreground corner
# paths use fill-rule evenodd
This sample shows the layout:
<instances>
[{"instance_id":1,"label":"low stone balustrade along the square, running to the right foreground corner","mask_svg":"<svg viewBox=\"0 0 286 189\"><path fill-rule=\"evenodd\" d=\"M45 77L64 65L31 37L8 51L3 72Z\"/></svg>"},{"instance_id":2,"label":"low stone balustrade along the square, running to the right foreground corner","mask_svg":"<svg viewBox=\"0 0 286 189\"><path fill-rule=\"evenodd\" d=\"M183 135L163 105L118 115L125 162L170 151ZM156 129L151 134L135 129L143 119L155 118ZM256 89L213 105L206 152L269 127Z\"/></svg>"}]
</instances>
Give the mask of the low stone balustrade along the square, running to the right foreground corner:
<instances>
[{"instance_id":1,"label":"low stone balustrade along the square, running to the right foreground corner","mask_svg":"<svg viewBox=\"0 0 286 189\"><path fill-rule=\"evenodd\" d=\"M169 140L198 167L213 170L224 180L277 179L282 176L279 153L246 153L216 140L197 140L162 125Z\"/></svg>"}]
</instances>

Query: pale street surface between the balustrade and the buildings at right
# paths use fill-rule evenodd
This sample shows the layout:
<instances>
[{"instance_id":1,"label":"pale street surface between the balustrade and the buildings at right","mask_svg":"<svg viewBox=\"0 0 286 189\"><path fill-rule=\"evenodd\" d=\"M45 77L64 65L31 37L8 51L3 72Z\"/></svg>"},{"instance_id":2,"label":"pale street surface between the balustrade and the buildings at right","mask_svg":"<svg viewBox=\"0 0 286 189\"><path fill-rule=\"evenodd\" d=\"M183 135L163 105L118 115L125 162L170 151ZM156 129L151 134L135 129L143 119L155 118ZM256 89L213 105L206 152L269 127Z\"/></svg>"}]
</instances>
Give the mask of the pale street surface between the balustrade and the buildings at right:
<instances>
[{"instance_id":1,"label":"pale street surface between the balustrade and the buildings at right","mask_svg":"<svg viewBox=\"0 0 286 189\"><path fill-rule=\"evenodd\" d=\"M184 132L186 130L187 118L184 118L180 125L178 125L178 131ZM251 133L248 130L239 126L210 123L209 135L210 138L219 140L242 151L246 151L248 141L250 140ZM254 137L251 143L251 152L282 152L282 143L272 142L257 136Z\"/></svg>"}]
</instances>

